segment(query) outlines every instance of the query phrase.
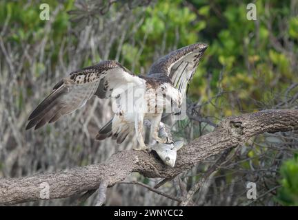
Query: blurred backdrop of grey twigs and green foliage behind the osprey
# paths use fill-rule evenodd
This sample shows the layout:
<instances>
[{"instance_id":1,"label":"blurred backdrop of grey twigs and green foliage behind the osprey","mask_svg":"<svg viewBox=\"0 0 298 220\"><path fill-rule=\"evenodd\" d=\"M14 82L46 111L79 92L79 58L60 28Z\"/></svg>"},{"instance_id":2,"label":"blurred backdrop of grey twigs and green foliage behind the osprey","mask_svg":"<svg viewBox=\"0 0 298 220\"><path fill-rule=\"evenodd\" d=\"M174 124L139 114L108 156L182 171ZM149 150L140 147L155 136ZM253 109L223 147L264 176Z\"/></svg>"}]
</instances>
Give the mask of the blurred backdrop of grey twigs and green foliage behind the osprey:
<instances>
[{"instance_id":1,"label":"blurred backdrop of grey twigs and green foliage behind the osprey","mask_svg":"<svg viewBox=\"0 0 298 220\"><path fill-rule=\"evenodd\" d=\"M41 3L49 20L41 20ZM257 19L248 20L248 3ZM95 142L112 118L110 102L86 107L37 131L25 131L30 111L66 74L115 59L146 74L160 56L192 43L208 43L188 89L188 118L173 124L186 142L223 118L262 109L298 109L298 1L145 0L0 2L0 177L104 162L137 142ZM166 118L164 119L166 120ZM264 134L208 158L161 186L181 197L202 177L198 206L298 206L297 132ZM218 157L224 163L208 175ZM119 168L120 169L120 168ZM127 181L155 186L161 179L133 173ZM246 197L247 183L257 199ZM83 206L89 206L93 195ZM108 189L107 206L175 206L177 201L133 184ZM75 198L23 203L69 206Z\"/></svg>"}]
</instances>

